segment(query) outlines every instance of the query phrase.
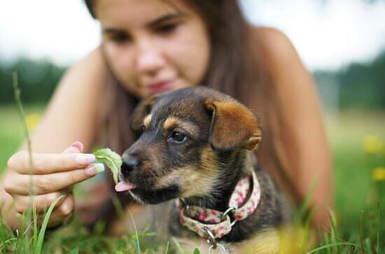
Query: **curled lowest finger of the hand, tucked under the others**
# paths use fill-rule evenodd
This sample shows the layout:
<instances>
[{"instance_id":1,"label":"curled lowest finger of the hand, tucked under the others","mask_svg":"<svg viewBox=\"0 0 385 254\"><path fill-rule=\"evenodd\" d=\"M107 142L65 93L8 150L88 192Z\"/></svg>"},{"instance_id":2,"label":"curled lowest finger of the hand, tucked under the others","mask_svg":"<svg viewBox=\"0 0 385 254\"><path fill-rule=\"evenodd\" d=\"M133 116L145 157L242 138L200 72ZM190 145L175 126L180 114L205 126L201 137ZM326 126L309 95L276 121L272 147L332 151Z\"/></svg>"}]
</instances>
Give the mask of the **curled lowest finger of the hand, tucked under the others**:
<instances>
[{"instance_id":1,"label":"curled lowest finger of the hand, tucked under the others","mask_svg":"<svg viewBox=\"0 0 385 254\"><path fill-rule=\"evenodd\" d=\"M73 199L73 195L68 195L62 204L55 208L50 214L48 227L54 227L55 225L59 225L63 220L71 216L75 206L75 200ZM45 213L39 213L37 217L38 223L43 223L45 218Z\"/></svg>"}]
</instances>

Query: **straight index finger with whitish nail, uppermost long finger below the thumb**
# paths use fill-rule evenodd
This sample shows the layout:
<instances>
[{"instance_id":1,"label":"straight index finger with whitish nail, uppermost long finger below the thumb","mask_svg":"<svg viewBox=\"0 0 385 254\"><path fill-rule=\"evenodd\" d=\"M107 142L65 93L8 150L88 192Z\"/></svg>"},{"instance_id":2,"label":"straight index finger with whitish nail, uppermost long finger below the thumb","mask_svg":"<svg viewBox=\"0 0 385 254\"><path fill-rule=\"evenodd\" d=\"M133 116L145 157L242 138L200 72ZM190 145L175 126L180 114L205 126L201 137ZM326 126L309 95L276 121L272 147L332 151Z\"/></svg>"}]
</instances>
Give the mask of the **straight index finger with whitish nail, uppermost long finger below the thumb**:
<instances>
[{"instance_id":1,"label":"straight index finger with whitish nail, uppermost long finger below the thumb","mask_svg":"<svg viewBox=\"0 0 385 254\"><path fill-rule=\"evenodd\" d=\"M85 167L96 160L87 153L32 153L33 174L50 174ZM8 160L8 168L20 174L29 174L29 153L15 153Z\"/></svg>"}]
</instances>

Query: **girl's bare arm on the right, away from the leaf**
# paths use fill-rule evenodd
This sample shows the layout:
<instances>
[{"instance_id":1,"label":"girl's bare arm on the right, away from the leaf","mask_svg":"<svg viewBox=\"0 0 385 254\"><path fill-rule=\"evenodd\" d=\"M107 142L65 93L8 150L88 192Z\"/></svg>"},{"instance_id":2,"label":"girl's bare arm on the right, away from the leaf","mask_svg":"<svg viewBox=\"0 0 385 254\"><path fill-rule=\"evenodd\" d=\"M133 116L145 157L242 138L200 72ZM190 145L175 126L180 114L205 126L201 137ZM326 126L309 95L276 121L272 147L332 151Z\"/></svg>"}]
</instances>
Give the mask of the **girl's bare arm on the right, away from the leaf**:
<instances>
[{"instance_id":1,"label":"girl's bare arm on the right, away from the leaf","mask_svg":"<svg viewBox=\"0 0 385 254\"><path fill-rule=\"evenodd\" d=\"M328 208L333 207L334 197L332 161L314 80L286 36L276 29L256 30L279 113L272 134L275 147L280 148L277 156L300 196L297 199L303 202L316 181L310 199L313 222L328 228Z\"/></svg>"}]
</instances>

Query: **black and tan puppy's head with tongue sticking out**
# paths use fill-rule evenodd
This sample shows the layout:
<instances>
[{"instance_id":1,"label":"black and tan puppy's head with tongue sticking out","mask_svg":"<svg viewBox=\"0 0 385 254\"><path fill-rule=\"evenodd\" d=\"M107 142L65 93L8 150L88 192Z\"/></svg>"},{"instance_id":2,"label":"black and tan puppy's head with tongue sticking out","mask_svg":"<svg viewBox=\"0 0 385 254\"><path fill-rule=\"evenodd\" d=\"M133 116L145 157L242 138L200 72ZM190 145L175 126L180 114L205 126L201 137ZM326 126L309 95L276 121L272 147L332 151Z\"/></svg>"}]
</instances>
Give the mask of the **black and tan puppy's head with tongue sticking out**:
<instances>
[{"instance_id":1,"label":"black and tan puppy's head with tongue sticking out","mask_svg":"<svg viewBox=\"0 0 385 254\"><path fill-rule=\"evenodd\" d=\"M149 204L209 196L221 184L221 154L253 150L262 134L246 106L204 87L144 99L131 127L140 137L123 153L120 190Z\"/></svg>"}]
</instances>

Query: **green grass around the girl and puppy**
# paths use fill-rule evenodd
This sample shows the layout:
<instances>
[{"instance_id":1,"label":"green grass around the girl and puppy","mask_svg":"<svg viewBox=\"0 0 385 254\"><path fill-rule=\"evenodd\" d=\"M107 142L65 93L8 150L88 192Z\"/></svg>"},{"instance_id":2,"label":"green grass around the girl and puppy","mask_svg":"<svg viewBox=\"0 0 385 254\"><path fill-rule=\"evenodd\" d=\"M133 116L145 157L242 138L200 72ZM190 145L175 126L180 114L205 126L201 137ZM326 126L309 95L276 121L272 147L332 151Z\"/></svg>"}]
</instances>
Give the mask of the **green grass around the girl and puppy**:
<instances>
[{"instance_id":1,"label":"green grass around the girl and puppy","mask_svg":"<svg viewBox=\"0 0 385 254\"><path fill-rule=\"evenodd\" d=\"M27 118L43 111L43 106L27 106ZM385 223L380 223L385 208L385 181L374 181L373 169L385 167L385 153L365 153L365 136L374 135L385 143L385 113L346 111L328 115L326 127L335 164L335 211L330 213L331 230L323 243L308 253L385 253ZM23 139L20 117L14 106L0 106L0 172L8 157ZM81 185L80 185L81 186ZM117 209L119 209L117 207ZM121 208L120 208L121 210ZM122 212L120 212L122 213ZM76 218L56 232L45 232L34 225L36 232L13 232L0 218L0 253L173 253L172 245L148 244L151 228L136 234L109 237L106 225L99 222L93 231L85 229ZM38 232L41 235L38 235ZM38 242L44 236L45 241ZM40 238L42 239L42 237ZM40 240L41 241L41 240ZM38 244L39 243L39 244ZM34 247L35 246L35 247ZM37 252L36 252L37 251ZM202 251L202 250L201 250Z\"/></svg>"}]
</instances>

